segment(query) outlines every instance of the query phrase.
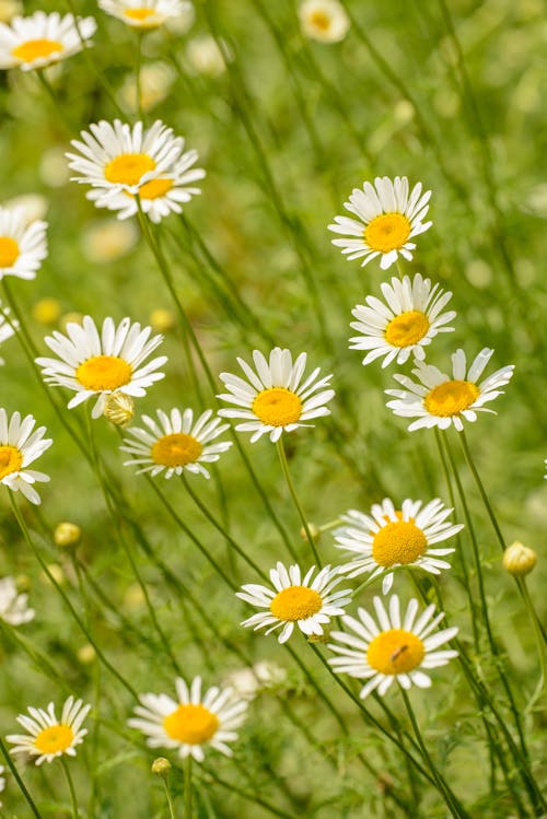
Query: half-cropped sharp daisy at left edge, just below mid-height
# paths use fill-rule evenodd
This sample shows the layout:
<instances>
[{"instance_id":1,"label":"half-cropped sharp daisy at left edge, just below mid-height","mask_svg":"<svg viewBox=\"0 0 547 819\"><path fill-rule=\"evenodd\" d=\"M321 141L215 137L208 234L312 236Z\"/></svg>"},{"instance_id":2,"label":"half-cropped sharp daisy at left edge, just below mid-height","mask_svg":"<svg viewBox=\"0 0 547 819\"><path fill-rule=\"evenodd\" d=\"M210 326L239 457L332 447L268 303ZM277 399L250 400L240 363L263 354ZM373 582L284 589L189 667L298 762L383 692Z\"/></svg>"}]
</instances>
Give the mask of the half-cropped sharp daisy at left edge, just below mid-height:
<instances>
[{"instance_id":1,"label":"half-cropped sharp daisy at left edge, just below mid-height","mask_svg":"<svg viewBox=\"0 0 547 819\"><path fill-rule=\"evenodd\" d=\"M28 464L39 458L51 446L51 438L45 438L45 426L34 430L33 416L21 420L14 412L11 419L0 409L0 483L12 492L21 491L31 503L42 503L39 494L32 487L36 481L48 481L49 476L27 469Z\"/></svg>"}]
</instances>

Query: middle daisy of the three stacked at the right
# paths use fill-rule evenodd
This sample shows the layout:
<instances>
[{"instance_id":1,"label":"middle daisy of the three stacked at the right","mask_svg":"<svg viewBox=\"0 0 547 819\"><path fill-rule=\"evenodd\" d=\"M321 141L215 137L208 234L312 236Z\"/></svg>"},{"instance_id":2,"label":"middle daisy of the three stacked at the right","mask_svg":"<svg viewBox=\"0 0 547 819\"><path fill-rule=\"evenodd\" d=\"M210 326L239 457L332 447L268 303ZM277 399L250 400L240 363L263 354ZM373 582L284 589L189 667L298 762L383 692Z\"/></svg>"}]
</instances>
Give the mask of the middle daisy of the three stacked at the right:
<instances>
[{"instance_id":1,"label":"middle daisy of the three stacked at the right","mask_svg":"<svg viewBox=\"0 0 547 819\"><path fill-rule=\"evenodd\" d=\"M350 327L362 334L350 339L350 350L370 350L363 365L383 356L383 367L392 361L404 364L410 355L420 361L426 356L423 348L430 344L438 332L451 332L455 311L443 313L452 297L439 284L431 286L431 279L417 273L414 280L393 278L383 282L382 293L386 304L374 296L366 296L366 306L358 304L352 315L358 319Z\"/></svg>"}]
</instances>

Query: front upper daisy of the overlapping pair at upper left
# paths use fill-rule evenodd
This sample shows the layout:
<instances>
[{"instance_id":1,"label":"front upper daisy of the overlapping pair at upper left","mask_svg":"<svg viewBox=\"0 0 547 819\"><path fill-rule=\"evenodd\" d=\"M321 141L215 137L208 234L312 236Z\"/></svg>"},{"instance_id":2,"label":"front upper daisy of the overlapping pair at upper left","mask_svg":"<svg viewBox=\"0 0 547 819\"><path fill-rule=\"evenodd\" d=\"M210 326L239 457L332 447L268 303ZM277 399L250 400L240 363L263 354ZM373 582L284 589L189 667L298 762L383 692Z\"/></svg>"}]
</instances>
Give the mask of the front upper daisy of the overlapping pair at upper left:
<instances>
[{"instance_id":1,"label":"front upper daisy of the overlapping pair at upper left","mask_svg":"<svg viewBox=\"0 0 547 819\"><path fill-rule=\"evenodd\" d=\"M103 198L98 194L93 197L100 208L108 207L116 194L135 195L147 183L171 179L183 157L184 139L175 137L160 119L147 129L142 122L130 126L119 119L113 124L102 119L80 136L81 140L71 141L80 153L66 154L69 167L81 174L71 178L103 190Z\"/></svg>"}]
</instances>

